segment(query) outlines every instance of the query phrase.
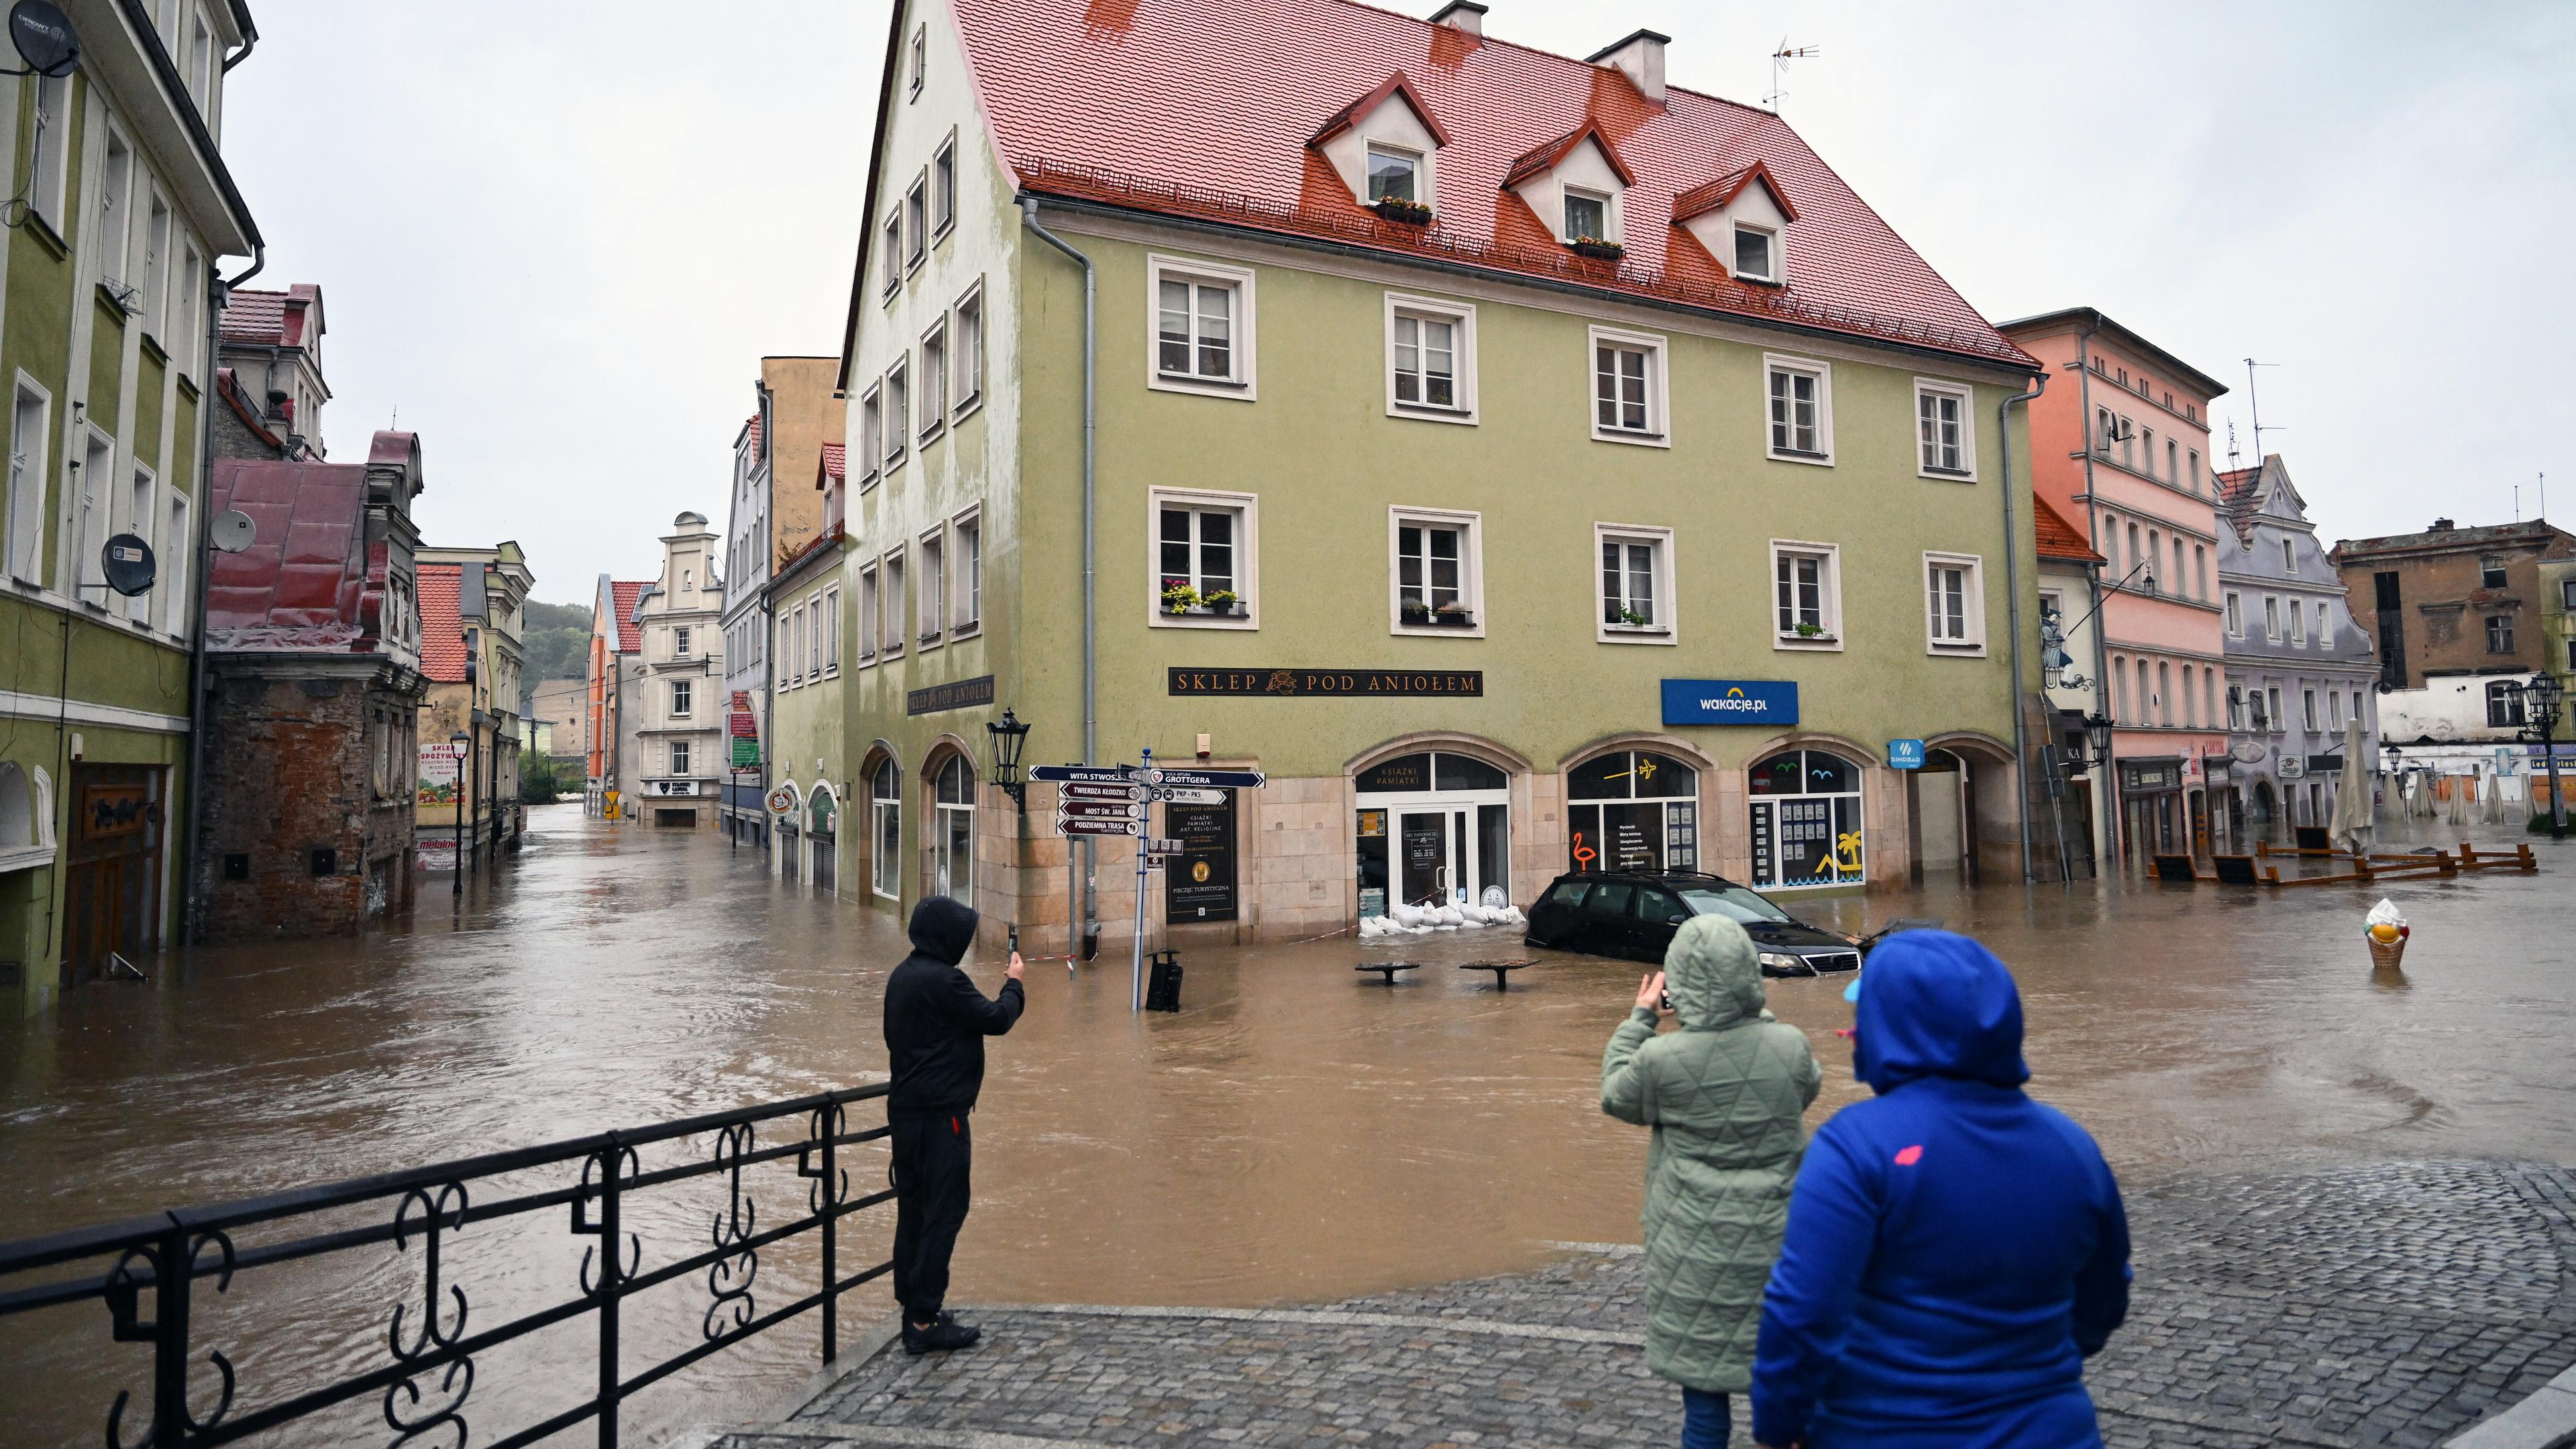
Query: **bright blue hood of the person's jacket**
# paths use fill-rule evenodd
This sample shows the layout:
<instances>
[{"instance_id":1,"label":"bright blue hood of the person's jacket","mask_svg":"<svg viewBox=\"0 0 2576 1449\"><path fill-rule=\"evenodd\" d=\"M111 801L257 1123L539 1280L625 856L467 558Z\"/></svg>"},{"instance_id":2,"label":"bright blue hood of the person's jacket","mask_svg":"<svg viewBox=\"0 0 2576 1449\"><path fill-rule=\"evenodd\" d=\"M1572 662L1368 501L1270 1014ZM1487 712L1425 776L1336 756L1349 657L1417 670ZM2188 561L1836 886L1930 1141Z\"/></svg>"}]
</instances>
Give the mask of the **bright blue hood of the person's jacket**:
<instances>
[{"instance_id":1,"label":"bright blue hood of the person's jacket","mask_svg":"<svg viewBox=\"0 0 2576 1449\"><path fill-rule=\"evenodd\" d=\"M1852 1075L1886 1093L1917 1078L2022 1085L2022 993L1958 931L1888 936L1862 969Z\"/></svg>"}]
</instances>

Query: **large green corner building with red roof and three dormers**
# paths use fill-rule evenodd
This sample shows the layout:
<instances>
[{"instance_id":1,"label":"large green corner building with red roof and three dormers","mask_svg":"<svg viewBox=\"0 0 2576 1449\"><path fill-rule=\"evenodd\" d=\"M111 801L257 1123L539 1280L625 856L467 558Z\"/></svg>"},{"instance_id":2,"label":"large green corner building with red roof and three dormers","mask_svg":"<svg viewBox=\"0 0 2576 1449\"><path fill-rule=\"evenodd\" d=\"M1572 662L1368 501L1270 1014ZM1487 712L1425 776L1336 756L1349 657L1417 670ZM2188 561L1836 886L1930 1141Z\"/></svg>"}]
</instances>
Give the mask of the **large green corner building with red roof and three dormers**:
<instances>
[{"instance_id":1,"label":"large green corner building with red roof and three dormers","mask_svg":"<svg viewBox=\"0 0 2576 1449\"><path fill-rule=\"evenodd\" d=\"M2038 369L1664 44L1540 54L1471 3L896 10L837 890L1126 936L1126 843L1069 864L1051 786L994 789L1005 706L1028 763L1267 773L1157 807L1177 941L1569 869L2020 871Z\"/></svg>"}]
</instances>

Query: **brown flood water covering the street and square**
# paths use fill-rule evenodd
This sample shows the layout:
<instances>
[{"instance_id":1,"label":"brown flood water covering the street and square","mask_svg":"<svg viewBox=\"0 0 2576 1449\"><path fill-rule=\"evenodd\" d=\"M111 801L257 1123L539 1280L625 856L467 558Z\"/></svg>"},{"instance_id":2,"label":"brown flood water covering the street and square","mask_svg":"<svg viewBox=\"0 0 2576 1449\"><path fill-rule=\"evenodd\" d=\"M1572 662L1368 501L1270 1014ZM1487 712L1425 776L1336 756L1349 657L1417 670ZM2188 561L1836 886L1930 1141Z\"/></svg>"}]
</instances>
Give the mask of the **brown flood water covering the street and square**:
<instances>
[{"instance_id":1,"label":"brown flood water covering the street and square","mask_svg":"<svg viewBox=\"0 0 2576 1449\"><path fill-rule=\"evenodd\" d=\"M711 835L611 830L577 807L531 817L526 856L461 910L425 892L410 923L363 941L201 951L0 1029L0 1238L884 1070L878 990L904 949L891 920L781 887ZM1847 931L1927 915L1989 941L2022 982L2032 1091L2092 1127L2130 1183L2409 1155L2566 1163L2576 843L2537 848L2537 877L2370 895L2079 882L1793 905ZM2378 895L2414 920L2401 980L2375 980L2360 941ZM1497 995L1489 975L1453 969L1481 954L1538 951L1507 931L1190 951L1185 1011L1146 1018L1126 1011L1123 959L1079 977L1030 967L1028 1016L994 1044L976 1116L956 1297L1306 1302L1528 1269L1561 1240L1636 1240L1643 1134L1600 1114L1597 1073L1641 967L1540 954ZM1383 957L1430 964L1396 987L1355 977ZM997 962L969 967L999 982ZM1842 980L1772 982L1772 1008L1826 1065L1816 1122L1865 1091L1834 1036L1852 1013ZM781 1194L762 1220L793 1209ZM706 1214L690 1201L649 1217L649 1261L703 1243ZM580 1248L567 1258L549 1214L482 1253L474 1328L567 1287ZM762 1274L765 1294L793 1287L788 1263ZM265 1307L227 1305L247 1315L237 1325L296 1325L255 1361L234 1354L245 1403L381 1364L386 1305L415 1276L417 1248L312 1269ZM884 1292L863 1302L873 1318ZM696 1341L698 1307L703 1294L636 1341ZM142 1387L147 1361L108 1351L103 1328L59 1312L41 1330L0 1325L0 1400L21 1405L0 1439L95 1441L106 1400ZM495 1415L477 1439L507 1426L497 1405L513 1392L587 1372L580 1343L505 1356L474 1387ZM811 1330L775 1330L654 1390L629 1426L703 1421L809 1369ZM366 1431L381 1436L381 1421Z\"/></svg>"}]
</instances>

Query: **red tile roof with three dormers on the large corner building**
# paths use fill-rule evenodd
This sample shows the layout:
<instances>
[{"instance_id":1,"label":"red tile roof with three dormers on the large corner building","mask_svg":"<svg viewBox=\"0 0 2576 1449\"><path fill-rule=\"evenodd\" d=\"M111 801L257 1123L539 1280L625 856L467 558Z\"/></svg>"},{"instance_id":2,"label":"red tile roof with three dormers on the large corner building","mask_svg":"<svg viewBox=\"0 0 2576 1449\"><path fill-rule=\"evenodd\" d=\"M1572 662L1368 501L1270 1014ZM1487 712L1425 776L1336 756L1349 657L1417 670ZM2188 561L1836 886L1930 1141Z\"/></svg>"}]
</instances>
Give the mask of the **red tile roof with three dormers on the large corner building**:
<instances>
[{"instance_id":1,"label":"red tile roof with three dormers on the large corner building","mask_svg":"<svg viewBox=\"0 0 2576 1449\"><path fill-rule=\"evenodd\" d=\"M1425 253L1713 312L2035 366L1780 116L1350 0L958 0L1002 155L1025 191ZM1381 222L1309 144L1391 75L1450 134L1437 222ZM1636 175L1625 258L1571 255L1504 175L1597 134ZM1680 245L1677 196L1762 165L1798 209L1788 286L1723 276Z\"/></svg>"}]
</instances>

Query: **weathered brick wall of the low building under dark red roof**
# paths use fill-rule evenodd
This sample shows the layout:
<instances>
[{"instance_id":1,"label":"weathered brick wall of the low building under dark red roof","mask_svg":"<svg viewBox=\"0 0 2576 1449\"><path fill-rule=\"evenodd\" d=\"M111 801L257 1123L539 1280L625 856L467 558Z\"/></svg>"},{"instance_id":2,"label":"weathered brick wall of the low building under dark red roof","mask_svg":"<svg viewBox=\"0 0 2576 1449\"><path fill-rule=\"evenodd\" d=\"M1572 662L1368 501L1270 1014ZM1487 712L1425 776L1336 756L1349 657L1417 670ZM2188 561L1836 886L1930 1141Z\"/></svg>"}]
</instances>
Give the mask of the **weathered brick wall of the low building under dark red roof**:
<instances>
[{"instance_id":1,"label":"weathered brick wall of the low building under dark red roof","mask_svg":"<svg viewBox=\"0 0 2576 1449\"><path fill-rule=\"evenodd\" d=\"M417 699L374 678L263 678L214 665L206 706L201 936L337 936L412 902ZM392 750L384 755L384 750ZM381 792L379 761L392 761ZM330 851L330 874L314 874ZM247 864L229 879L229 864Z\"/></svg>"}]
</instances>

